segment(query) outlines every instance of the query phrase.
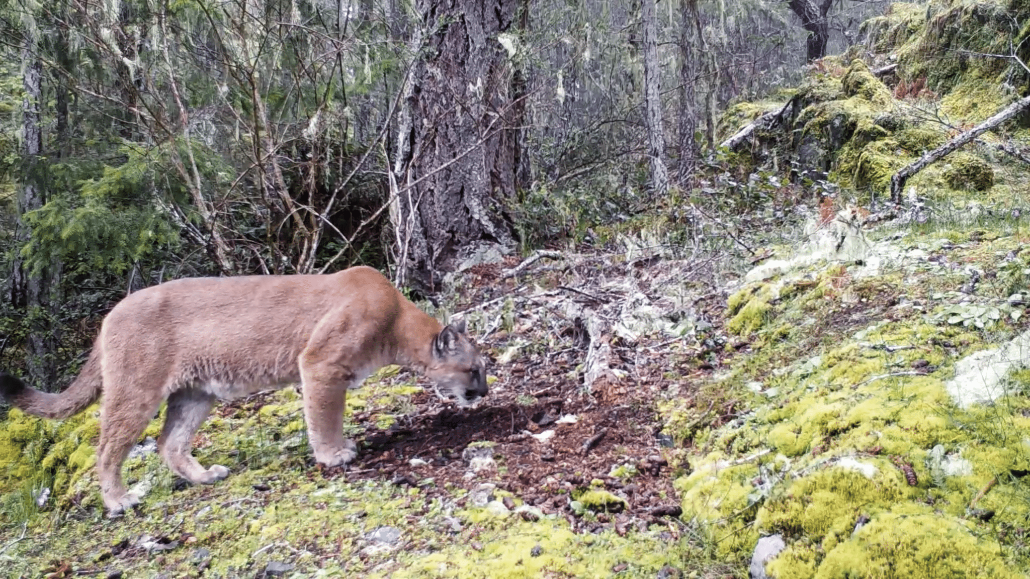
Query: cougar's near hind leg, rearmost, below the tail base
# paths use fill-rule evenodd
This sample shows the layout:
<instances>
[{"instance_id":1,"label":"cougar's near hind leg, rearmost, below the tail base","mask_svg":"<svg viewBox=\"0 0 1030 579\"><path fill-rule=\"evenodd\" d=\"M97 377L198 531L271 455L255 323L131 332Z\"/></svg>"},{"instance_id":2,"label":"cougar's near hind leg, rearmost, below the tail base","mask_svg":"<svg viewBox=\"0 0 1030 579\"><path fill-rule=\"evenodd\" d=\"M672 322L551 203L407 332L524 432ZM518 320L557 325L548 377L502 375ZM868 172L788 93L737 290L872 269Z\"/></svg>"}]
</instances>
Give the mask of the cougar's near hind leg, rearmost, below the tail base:
<instances>
[{"instance_id":1,"label":"cougar's near hind leg, rearmost, below the tail base","mask_svg":"<svg viewBox=\"0 0 1030 579\"><path fill-rule=\"evenodd\" d=\"M158 406L161 391L133 390L126 376L104 376L104 397L100 409L100 442L97 445L97 471L100 492L111 515L139 504L139 497L126 490L122 464L143 434Z\"/></svg>"}]
</instances>

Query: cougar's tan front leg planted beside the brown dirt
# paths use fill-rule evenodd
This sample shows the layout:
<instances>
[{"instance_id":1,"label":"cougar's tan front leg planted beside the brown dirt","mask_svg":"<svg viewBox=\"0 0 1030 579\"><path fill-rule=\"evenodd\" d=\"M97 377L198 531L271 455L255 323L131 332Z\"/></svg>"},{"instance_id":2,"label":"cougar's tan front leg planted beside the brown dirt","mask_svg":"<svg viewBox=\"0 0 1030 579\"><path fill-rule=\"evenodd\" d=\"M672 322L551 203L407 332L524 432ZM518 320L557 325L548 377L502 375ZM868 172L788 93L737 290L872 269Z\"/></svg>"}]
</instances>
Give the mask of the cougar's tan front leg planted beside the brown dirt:
<instances>
[{"instance_id":1,"label":"cougar's tan front leg planted beside the brown dirt","mask_svg":"<svg viewBox=\"0 0 1030 579\"><path fill-rule=\"evenodd\" d=\"M308 440L315 461L327 467L337 467L357 456L354 441L343 438L347 386L354 374L347 367L318 360L316 355L306 356L306 353L301 354L300 366Z\"/></svg>"}]
</instances>

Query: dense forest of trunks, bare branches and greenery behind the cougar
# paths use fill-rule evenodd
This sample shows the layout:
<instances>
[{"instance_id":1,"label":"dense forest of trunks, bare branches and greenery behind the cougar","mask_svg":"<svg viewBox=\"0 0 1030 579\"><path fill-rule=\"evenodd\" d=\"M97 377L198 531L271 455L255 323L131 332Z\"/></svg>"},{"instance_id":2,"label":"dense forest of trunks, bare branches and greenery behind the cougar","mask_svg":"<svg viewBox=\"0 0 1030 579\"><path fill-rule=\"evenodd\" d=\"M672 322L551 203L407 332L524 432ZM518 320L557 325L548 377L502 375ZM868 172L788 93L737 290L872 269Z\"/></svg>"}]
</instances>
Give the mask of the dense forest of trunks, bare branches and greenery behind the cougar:
<instances>
[{"instance_id":1,"label":"dense forest of trunks, bare branches and greenery behind the cougar","mask_svg":"<svg viewBox=\"0 0 1030 579\"><path fill-rule=\"evenodd\" d=\"M880 0L34 0L0 6L0 368L60 389L185 276L368 264L414 297L658 206L726 215L728 103Z\"/></svg>"}]
</instances>

